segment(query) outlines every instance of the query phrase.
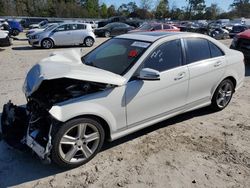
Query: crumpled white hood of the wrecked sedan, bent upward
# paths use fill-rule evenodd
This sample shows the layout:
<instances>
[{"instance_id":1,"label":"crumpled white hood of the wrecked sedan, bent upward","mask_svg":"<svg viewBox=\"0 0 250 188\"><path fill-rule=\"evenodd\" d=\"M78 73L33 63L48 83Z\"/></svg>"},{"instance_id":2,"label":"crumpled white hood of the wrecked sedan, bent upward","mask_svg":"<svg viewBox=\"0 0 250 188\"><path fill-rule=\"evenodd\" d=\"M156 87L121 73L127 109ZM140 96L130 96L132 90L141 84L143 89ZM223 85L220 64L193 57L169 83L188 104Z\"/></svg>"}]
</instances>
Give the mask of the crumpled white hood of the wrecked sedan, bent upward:
<instances>
[{"instance_id":1,"label":"crumpled white hood of the wrecked sedan, bent upward","mask_svg":"<svg viewBox=\"0 0 250 188\"><path fill-rule=\"evenodd\" d=\"M23 90L26 96L36 91L43 80L70 78L121 86L126 79L118 74L85 65L80 50L52 53L31 68L25 79Z\"/></svg>"}]
</instances>

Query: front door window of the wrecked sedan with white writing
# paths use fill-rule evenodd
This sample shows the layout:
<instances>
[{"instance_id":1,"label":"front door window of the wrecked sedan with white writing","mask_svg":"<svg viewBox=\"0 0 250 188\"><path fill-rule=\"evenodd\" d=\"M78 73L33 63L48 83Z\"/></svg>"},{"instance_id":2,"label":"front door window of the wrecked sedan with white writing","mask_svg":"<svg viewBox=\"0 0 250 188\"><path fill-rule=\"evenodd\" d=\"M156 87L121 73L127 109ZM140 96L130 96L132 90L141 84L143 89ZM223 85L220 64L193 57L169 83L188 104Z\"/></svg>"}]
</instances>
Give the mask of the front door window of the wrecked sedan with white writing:
<instances>
[{"instance_id":1,"label":"front door window of the wrecked sedan with white writing","mask_svg":"<svg viewBox=\"0 0 250 188\"><path fill-rule=\"evenodd\" d=\"M165 71L181 66L182 50L180 40L173 40L157 47L146 59L144 68Z\"/></svg>"}]
</instances>

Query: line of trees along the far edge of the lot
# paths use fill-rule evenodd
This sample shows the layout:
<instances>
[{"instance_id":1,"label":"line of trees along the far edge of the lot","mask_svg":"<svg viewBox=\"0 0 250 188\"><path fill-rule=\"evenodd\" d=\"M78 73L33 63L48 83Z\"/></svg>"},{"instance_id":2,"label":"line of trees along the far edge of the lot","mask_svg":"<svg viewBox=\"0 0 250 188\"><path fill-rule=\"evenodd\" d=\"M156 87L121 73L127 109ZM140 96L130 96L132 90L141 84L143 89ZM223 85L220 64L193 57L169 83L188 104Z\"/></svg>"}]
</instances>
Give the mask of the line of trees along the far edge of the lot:
<instances>
[{"instance_id":1,"label":"line of trees along the far edge of the lot","mask_svg":"<svg viewBox=\"0 0 250 188\"><path fill-rule=\"evenodd\" d=\"M0 16L109 18L127 16L140 19L214 20L219 18L250 17L250 0L234 0L227 12L205 0L186 0L186 6L169 6L168 0L131 1L119 7L107 6L99 0L0 0ZM154 7L154 8L152 8Z\"/></svg>"}]
</instances>

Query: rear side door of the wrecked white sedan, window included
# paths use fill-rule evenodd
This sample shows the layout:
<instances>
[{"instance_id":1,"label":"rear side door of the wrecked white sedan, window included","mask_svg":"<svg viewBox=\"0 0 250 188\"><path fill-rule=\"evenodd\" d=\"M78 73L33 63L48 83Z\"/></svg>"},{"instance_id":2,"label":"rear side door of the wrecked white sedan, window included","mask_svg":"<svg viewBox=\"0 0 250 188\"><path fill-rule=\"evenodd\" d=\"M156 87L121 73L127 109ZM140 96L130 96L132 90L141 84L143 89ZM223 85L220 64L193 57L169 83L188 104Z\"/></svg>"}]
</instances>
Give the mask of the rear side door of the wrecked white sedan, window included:
<instances>
[{"instance_id":1,"label":"rear side door of the wrecked white sedan, window included","mask_svg":"<svg viewBox=\"0 0 250 188\"><path fill-rule=\"evenodd\" d=\"M202 38L187 38L185 44L190 72L187 102L197 105L210 102L225 71L224 52L214 43Z\"/></svg>"}]
</instances>

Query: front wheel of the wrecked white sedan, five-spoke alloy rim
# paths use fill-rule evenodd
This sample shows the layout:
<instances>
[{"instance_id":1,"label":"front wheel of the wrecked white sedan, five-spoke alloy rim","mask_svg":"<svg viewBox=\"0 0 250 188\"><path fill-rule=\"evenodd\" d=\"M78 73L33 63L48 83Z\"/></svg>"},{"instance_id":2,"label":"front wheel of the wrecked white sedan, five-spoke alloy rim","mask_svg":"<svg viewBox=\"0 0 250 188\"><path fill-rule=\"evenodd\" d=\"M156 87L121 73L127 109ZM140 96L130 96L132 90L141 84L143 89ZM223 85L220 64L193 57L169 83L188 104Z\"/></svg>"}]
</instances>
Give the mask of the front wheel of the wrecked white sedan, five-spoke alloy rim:
<instances>
[{"instance_id":1,"label":"front wheel of the wrecked white sedan, five-spoke alloy rim","mask_svg":"<svg viewBox=\"0 0 250 188\"><path fill-rule=\"evenodd\" d=\"M97 120L70 120L52 134L52 161L63 168L81 166L100 151L104 137L103 127Z\"/></svg>"}]
</instances>

